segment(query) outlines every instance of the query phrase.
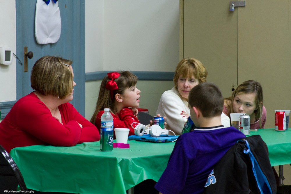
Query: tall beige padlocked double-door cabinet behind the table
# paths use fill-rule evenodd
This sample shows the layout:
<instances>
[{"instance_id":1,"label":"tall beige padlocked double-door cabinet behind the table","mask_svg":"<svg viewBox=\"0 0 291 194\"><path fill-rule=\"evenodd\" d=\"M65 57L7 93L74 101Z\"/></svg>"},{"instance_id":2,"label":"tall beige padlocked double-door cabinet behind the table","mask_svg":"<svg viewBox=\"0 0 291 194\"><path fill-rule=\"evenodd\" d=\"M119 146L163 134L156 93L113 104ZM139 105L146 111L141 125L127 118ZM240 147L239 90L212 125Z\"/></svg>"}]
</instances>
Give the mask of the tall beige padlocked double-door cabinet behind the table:
<instances>
[{"instance_id":1,"label":"tall beige padlocked double-door cabinet behind the table","mask_svg":"<svg viewBox=\"0 0 291 194\"><path fill-rule=\"evenodd\" d=\"M243 81L260 82L265 128L274 128L274 110L291 109L291 0L281 4L268 0L263 6L261 1L249 1L233 12L227 9L229 1L214 1L208 6L211 15L203 10L207 1L183 2L182 57L195 53L209 73L207 81L216 83L224 97Z\"/></svg>"}]
</instances>

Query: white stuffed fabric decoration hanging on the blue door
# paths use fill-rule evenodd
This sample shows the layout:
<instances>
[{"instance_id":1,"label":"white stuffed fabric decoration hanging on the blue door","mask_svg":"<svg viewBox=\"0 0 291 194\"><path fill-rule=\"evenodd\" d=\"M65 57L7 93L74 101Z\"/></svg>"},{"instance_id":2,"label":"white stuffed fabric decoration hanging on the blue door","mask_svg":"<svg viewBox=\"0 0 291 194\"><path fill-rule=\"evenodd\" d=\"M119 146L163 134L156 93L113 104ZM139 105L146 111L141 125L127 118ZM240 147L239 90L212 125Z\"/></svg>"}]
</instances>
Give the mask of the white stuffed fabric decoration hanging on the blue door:
<instances>
[{"instance_id":1,"label":"white stuffed fabric decoration hanging on the blue door","mask_svg":"<svg viewBox=\"0 0 291 194\"><path fill-rule=\"evenodd\" d=\"M35 35L38 44L58 41L61 35L61 15L57 0L37 0Z\"/></svg>"}]
</instances>

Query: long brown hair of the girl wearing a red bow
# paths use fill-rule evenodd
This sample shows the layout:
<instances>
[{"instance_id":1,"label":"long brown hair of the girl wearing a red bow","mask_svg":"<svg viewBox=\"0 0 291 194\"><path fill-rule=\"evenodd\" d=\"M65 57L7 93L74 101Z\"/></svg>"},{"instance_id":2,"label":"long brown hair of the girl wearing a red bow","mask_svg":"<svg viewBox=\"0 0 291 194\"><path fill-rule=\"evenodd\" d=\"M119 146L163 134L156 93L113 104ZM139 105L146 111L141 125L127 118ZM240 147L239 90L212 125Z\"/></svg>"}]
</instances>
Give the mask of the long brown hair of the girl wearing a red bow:
<instances>
[{"instance_id":1,"label":"long brown hair of the girl wearing a red bow","mask_svg":"<svg viewBox=\"0 0 291 194\"><path fill-rule=\"evenodd\" d=\"M93 123L94 125L96 125L96 116L98 112L104 110L104 108L109 108L111 113L116 114L117 108L115 107L115 104L114 104L115 95L116 94L122 95L125 89L135 86L137 83L138 78L132 72L121 71L119 73L120 73L119 77L114 79L114 81L116 82L118 86L118 89L112 91L113 99L111 99L110 90L105 88L106 83L110 81L111 79L109 79L108 75L106 75L101 82L95 112L90 120L90 122Z\"/></svg>"}]
</instances>

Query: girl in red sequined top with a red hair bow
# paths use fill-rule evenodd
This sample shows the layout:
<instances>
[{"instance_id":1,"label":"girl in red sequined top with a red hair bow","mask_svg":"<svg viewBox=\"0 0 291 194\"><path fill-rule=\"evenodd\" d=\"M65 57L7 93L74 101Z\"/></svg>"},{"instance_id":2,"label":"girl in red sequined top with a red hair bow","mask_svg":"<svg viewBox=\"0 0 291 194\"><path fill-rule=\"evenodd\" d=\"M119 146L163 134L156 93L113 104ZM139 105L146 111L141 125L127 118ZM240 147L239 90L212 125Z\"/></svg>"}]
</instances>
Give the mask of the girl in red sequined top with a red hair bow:
<instances>
[{"instance_id":1,"label":"girl in red sequined top with a red hair bow","mask_svg":"<svg viewBox=\"0 0 291 194\"><path fill-rule=\"evenodd\" d=\"M109 108L115 128L129 128L129 135L134 135L131 124L139 122L137 118L141 91L136 88L137 76L129 71L110 72L101 82L95 112L90 120L100 131L101 115L104 108ZM131 108L129 108L131 107ZM114 139L115 139L115 133Z\"/></svg>"}]
</instances>

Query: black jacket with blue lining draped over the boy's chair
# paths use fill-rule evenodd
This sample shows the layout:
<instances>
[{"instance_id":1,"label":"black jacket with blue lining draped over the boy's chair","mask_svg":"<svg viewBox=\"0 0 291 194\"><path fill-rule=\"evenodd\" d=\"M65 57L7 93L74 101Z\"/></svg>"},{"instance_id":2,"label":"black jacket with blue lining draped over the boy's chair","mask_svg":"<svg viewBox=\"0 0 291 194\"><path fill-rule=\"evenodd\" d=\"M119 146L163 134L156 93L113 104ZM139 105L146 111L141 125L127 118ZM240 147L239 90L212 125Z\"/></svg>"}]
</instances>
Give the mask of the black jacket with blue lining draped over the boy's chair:
<instances>
[{"instance_id":1,"label":"black jacket with blue lining draped over the boy's chair","mask_svg":"<svg viewBox=\"0 0 291 194\"><path fill-rule=\"evenodd\" d=\"M276 193L276 179L259 135L238 140L214 166L204 193Z\"/></svg>"}]
</instances>

